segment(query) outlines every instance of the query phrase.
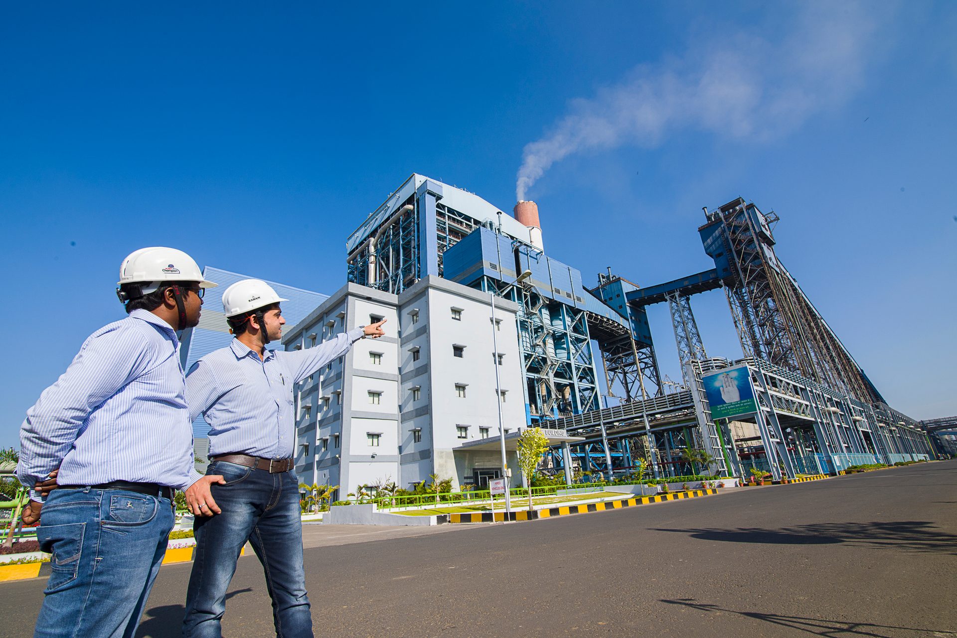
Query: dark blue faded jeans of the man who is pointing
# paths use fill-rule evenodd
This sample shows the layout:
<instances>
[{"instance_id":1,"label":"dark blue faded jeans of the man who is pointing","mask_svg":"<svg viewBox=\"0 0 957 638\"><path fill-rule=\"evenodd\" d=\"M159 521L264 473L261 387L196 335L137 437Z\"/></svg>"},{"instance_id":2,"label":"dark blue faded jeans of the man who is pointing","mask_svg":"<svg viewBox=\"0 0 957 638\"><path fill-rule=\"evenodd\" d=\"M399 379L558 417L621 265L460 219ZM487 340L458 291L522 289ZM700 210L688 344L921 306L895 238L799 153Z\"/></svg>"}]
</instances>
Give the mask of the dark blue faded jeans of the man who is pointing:
<instances>
[{"instance_id":1,"label":"dark blue faded jeans of the man who is pointing","mask_svg":"<svg viewBox=\"0 0 957 638\"><path fill-rule=\"evenodd\" d=\"M268 473L213 461L207 474L222 474L212 497L222 514L196 517L196 550L186 595L186 638L219 638L226 590L249 539L266 575L279 638L311 638L312 613L302 568L299 480L293 472Z\"/></svg>"}]
</instances>

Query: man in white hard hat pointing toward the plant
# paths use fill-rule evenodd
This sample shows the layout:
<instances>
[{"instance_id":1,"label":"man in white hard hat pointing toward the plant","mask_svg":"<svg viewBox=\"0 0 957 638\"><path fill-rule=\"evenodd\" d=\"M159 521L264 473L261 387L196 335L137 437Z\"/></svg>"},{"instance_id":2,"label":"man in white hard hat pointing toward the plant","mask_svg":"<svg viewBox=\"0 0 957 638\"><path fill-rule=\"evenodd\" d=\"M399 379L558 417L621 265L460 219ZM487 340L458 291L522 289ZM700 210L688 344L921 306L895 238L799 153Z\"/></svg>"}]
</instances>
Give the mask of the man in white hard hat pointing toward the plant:
<instances>
[{"instance_id":1,"label":"man in white hard hat pointing toward the plant","mask_svg":"<svg viewBox=\"0 0 957 638\"><path fill-rule=\"evenodd\" d=\"M345 354L352 343L385 333L360 326L305 350L267 350L282 336L278 297L266 282L245 279L223 293L235 339L194 363L187 375L191 418L210 425L210 474L222 485L197 484L187 492L196 515L196 549L187 591L183 635L221 635L226 589L248 539L262 562L273 599L276 634L312 636L302 568L299 479L293 472L297 383Z\"/></svg>"}]
</instances>

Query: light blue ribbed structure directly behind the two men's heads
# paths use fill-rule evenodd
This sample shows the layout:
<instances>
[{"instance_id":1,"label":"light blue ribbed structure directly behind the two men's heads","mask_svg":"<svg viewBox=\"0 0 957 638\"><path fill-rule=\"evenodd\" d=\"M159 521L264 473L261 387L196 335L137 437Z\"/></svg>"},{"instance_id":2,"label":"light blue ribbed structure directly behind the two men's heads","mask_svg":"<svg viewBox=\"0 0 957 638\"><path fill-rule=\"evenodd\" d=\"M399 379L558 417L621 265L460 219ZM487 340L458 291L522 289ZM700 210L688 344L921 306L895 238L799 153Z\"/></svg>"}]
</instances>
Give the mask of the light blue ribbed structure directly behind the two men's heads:
<instances>
[{"instance_id":1,"label":"light blue ribbed structure directly behind the two men's heads","mask_svg":"<svg viewBox=\"0 0 957 638\"><path fill-rule=\"evenodd\" d=\"M224 348L233 341L233 335L229 333L229 326L226 325L226 319L222 318L223 313L223 292L236 281L251 278L249 275L240 275L230 271L224 271L219 268L207 266L203 269L203 277L208 281L218 283L219 286L207 290L206 297L203 297L204 312L207 315L214 315L217 319L212 319L211 327L197 326L189 328L183 334L183 347L180 356L183 361L183 369L188 370L193 363L196 363L201 357L210 354L213 350ZM302 319L319 307L328 295L314 293L301 288L294 288L276 281L266 281L276 290L279 297L289 299L282 302L282 317L286 319L284 330L291 330ZM219 321L222 321L220 328ZM207 326L210 323L204 322ZM282 349L279 341L273 341L268 346L270 350ZM192 435L196 438L205 438L210 431L210 426L203 420L202 416L192 422Z\"/></svg>"}]
</instances>

